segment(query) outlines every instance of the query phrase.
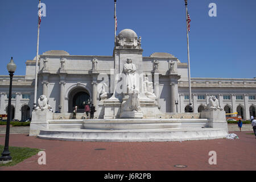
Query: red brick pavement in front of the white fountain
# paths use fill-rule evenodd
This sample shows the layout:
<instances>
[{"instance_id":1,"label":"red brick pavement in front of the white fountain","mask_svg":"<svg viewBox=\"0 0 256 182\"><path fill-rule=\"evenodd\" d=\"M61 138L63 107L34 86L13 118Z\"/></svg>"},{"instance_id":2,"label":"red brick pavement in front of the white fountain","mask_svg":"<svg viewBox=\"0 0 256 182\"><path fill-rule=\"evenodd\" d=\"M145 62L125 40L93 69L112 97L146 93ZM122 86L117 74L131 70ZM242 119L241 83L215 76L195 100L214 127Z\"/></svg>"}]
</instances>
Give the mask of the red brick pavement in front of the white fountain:
<instances>
[{"instance_id":1,"label":"red brick pavement in front of the white fountain","mask_svg":"<svg viewBox=\"0 0 256 182\"><path fill-rule=\"evenodd\" d=\"M232 132L233 133L233 132ZM251 131L234 132L240 139L186 142L64 142L11 134L10 146L46 151L46 165L35 155L1 170L256 170L256 139ZM0 135L1 136L1 135ZM2 135L3 136L3 135ZM0 137L4 144L5 137ZM105 148L106 150L95 150ZM209 151L217 152L217 165L209 165ZM175 168L183 164L187 168Z\"/></svg>"}]
</instances>

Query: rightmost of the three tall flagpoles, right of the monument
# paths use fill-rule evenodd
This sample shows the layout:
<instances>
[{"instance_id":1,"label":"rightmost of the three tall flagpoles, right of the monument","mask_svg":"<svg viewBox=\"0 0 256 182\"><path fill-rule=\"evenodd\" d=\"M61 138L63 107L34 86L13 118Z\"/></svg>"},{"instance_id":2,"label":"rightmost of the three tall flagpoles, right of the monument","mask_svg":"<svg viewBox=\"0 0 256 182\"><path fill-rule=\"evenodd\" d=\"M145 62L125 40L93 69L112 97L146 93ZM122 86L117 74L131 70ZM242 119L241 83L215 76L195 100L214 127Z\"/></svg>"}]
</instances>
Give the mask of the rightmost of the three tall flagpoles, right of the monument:
<instances>
[{"instance_id":1,"label":"rightmost of the three tall flagpoles, right of the monument","mask_svg":"<svg viewBox=\"0 0 256 182\"><path fill-rule=\"evenodd\" d=\"M190 73L190 56L189 56L189 39L188 39L188 0L185 0L186 7L186 22L187 22L187 45L188 45L188 87L189 87L189 113L193 113L193 107L191 103L191 73Z\"/></svg>"}]
</instances>

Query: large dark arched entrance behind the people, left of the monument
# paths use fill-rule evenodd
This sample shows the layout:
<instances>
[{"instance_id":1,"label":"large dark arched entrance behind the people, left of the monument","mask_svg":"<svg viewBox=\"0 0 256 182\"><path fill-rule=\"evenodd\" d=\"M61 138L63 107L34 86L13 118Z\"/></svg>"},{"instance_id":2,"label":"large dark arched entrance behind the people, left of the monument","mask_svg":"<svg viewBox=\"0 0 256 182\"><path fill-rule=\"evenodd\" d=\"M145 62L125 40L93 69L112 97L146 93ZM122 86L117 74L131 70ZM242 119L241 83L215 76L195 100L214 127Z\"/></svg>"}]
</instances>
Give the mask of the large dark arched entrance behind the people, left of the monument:
<instances>
[{"instance_id":1,"label":"large dark arched entrance behind the people, left of the monument","mask_svg":"<svg viewBox=\"0 0 256 182\"><path fill-rule=\"evenodd\" d=\"M84 88L76 88L71 91L68 97L68 112L72 113L77 106L77 113L84 113L84 102L90 100L89 92Z\"/></svg>"}]
</instances>

